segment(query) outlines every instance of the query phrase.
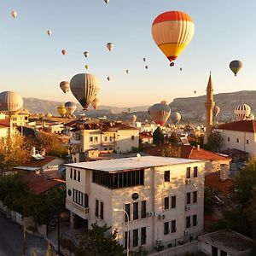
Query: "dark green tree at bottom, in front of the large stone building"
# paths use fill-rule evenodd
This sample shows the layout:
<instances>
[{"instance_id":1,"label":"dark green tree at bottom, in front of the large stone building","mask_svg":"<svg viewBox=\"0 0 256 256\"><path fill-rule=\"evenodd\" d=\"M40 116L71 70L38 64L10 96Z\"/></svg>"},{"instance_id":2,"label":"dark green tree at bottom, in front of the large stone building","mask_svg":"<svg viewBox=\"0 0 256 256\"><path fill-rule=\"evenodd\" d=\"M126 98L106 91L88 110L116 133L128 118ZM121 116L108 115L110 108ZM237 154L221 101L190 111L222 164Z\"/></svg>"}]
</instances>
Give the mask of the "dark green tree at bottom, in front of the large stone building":
<instances>
[{"instance_id":1,"label":"dark green tree at bottom, in front of the large stone building","mask_svg":"<svg viewBox=\"0 0 256 256\"><path fill-rule=\"evenodd\" d=\"M124 247L122 247L116 240L117 231L113 234L108 234L111 227L107 227L104 224L102 227L97 224L92 224L91 229L88 230L87 234L82 236L79 241L79 247L75 253L77 256L119 256L123 255Z\"/></svg>"}]
</instances>

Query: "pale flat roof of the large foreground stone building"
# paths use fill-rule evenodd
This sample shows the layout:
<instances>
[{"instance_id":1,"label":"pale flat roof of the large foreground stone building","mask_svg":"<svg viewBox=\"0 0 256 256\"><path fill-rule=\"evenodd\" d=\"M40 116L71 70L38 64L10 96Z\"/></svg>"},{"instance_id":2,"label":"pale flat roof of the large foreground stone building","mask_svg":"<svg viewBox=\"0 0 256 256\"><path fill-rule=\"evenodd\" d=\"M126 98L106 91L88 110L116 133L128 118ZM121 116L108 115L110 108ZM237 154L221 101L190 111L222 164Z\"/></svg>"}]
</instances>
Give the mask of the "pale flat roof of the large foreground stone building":
<instances>
[{"instance_id":1,"label":"pale flat roof of the large foreground stone building","mask_svg":"<svg viewBox=\"0 0 256 256\"><path fill-rule=\"evenodd\" d=\"M141 158L130 157L114 160L98 160L92 162L79 162L66 164L73 168L82 168L88 170L96 170L103 172L118 172L137 170L156 166L172 166L179 164L188 164L196 162L207 162L206 160L191 160L183 158L159 157L159 156L142 156Z\"/></svg>"}]
</instances>

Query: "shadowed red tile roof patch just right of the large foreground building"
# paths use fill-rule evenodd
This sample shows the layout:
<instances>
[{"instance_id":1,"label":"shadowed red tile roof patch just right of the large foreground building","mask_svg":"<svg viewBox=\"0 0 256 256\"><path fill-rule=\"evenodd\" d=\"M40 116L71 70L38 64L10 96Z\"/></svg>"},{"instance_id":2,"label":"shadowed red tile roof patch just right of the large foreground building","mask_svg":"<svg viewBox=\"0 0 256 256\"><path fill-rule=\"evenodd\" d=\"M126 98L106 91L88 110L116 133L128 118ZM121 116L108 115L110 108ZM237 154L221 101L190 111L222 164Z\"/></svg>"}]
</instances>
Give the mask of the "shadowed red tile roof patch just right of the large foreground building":
<instances>
[{"instance_id":1,"label":"shadowed red tile roof patch just right of the large foreground building","mask_svg":"<svg viewBox=\"0 0 256 256\"><path fill-rule=\"evenodd\" d=\"M206 187L210 187L212 189L216 189L224 194L229 193L230 188L233 185L233 179L227 179L225 181L221 181L219 177L219 172L211 172L205 177L205 185Z\"/></svg>"}]
</instances>

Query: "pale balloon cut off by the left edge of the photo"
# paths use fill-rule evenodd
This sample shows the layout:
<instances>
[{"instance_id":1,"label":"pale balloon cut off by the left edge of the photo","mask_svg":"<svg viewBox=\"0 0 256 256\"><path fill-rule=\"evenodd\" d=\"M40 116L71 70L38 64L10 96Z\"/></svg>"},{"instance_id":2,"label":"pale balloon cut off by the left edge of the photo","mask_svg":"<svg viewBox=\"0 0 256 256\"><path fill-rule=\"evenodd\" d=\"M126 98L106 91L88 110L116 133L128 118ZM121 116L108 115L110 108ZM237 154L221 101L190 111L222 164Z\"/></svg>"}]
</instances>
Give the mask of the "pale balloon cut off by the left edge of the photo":
<instances>
[{"instance_id":1,"label":"pale balloon cut off by the left edge of the photo","mask_svg":"<svg viewBox=\"0 0 256 256\"><path fill-rule=\"evenodd\" d=\"M19 113L22 107L23 99L15 91L6 90L0 93L0 112Z\"/></svg>"}]
</instances>

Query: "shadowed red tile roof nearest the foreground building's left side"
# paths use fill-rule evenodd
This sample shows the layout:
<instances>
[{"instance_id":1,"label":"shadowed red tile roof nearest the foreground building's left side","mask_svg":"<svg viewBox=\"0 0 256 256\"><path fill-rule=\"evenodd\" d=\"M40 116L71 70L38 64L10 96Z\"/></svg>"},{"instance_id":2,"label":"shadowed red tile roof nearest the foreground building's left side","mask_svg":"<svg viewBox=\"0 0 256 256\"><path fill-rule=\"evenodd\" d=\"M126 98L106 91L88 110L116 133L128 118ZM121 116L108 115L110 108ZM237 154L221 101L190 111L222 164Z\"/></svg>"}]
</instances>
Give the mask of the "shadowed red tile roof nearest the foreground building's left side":
<instances>
[{"instance_id":1,"label":"shadowed red tile roof nearest the foreground building's left side","mask_svg":"<svg viewBox=\"0 0 256 256\"><path fill-rule=\"evenodd\" d=\"M44 177L42 175L29 173L23 175L22 180L27 183L28 188L34 195L40 195L44 192L49 191L55 187L55 185L61 183L58 180Z\"/></svg>"}]
</instances>

